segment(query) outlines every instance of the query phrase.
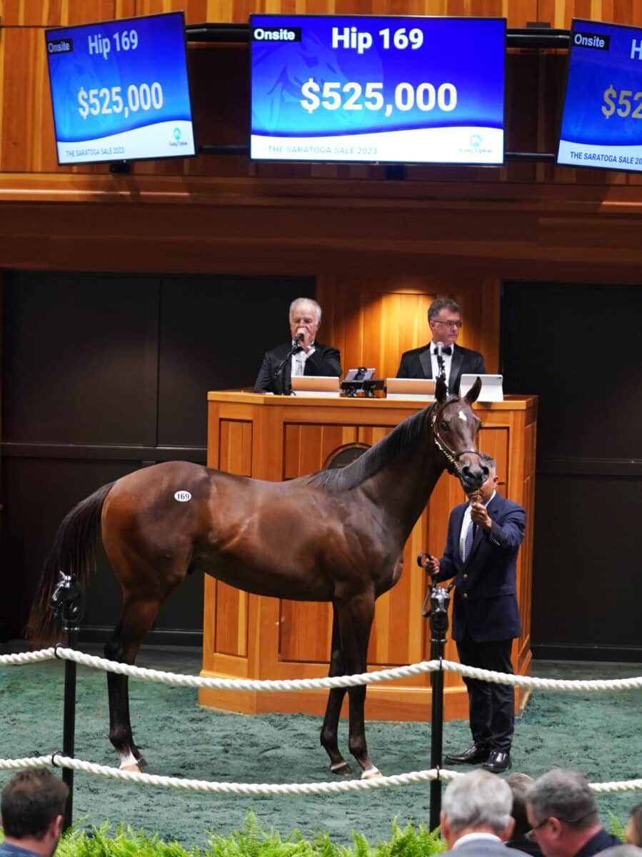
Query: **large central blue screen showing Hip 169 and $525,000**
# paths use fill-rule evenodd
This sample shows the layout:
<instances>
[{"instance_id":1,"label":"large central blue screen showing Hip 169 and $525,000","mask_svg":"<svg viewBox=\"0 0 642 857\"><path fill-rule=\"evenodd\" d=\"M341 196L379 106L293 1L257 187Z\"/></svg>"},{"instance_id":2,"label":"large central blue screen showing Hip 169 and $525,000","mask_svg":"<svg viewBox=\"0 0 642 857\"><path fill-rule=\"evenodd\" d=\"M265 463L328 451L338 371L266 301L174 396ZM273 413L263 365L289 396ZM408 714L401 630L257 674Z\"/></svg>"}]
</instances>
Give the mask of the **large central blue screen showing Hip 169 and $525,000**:
<instances>
[{"instance_id":1,"label":"large central blue screen showing Hip 169 and $525,000","mask_svg":"<svg viewBox=\"0 0 642 857\"><path fill-rule=\"evenodd\" d=\"M250 157L502 164L503 18L251 15Z\"/></svg>"}]
</instances>

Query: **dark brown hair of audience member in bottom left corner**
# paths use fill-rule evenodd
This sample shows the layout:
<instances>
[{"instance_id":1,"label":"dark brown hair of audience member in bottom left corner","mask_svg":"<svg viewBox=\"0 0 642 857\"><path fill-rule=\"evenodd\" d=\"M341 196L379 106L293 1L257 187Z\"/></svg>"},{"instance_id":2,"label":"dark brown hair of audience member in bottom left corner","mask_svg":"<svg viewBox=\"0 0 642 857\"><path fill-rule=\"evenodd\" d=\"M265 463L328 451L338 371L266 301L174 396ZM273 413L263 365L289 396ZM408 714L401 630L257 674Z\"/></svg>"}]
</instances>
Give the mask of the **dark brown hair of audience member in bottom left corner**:
<instances>
[{"instance_id":1,"label":"dark brown hair of audience member in bottom left corner","mask_svg":"<svg viewBox=\"0 0 642 857\"><path fill-rule=\"evenodd\" d=\"M66 783L45 768L21 770L3 788L0 812L5 836L42 839L51 822L63 815Z\"/></svg>"}]
</instances>

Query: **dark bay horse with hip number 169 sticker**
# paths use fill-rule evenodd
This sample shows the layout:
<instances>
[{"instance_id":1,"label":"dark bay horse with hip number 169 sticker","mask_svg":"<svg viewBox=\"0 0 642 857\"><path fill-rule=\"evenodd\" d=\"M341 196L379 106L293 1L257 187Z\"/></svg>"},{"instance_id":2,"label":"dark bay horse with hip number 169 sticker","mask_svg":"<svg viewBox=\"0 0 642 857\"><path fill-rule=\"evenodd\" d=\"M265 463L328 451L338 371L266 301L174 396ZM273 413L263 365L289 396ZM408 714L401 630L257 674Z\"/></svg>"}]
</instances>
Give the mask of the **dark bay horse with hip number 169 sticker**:
<instances>
[{"instance_id":1,"label":"dark bay horse with hip number 169 sticker","mask_svg":"<svg viewBox=\"0 0 642 857\"><path fill-rule=\"evenodd\" d=\"M341 470L261 482L171 461L99 488L69 512L46 560L29 620L39 644L57 635L50 600L59 572L84 586L99 534L123 588L123 610L105 656L133 663L161 604L189 570L261 596L332 602L330 675L364 673L375 599L397 583L405 541L446 468L468 493L488 476L471 410L481 381L408 417ZM110 740L121 767L144 764L129 722L126 676L107 674ZM321 728L330 770L351 772L337 731L345 688L332 689ZM348 746L376 776L365 740L365 686L348 691Z\"/></svg>"}]
</instances>

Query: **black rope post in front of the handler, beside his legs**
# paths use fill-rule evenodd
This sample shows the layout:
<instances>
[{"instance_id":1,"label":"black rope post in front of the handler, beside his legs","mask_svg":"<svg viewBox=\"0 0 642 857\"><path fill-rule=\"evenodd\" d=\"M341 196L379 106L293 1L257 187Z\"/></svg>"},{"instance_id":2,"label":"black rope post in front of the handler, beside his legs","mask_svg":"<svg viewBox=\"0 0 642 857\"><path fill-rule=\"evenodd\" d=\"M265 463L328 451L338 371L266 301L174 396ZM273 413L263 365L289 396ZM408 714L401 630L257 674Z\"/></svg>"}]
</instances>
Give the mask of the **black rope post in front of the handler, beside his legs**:
<instances>
[{"instance_id":1,"label":"black rope post in front of the handler, beside his legs","mask_svg":"<svg viewBox=\"0 0 642 857\"><path fill-rule=\"evenodd\" d=\"M425 567L429 554L419 554L417 565ZM428 572L428 569L426 569ZM448 603L450 602L449 586L429 584L429 590L423 602L422 614L430 620L430 660L441 661L444 656L446 645L446 634L448 630ZM426 606L430 602L430 609ZM441 752L443 748L443 726L444 726L444 673L440 667L430 674L430 687L432 688L432 710L430 727L430 767L434 768L439 775L441 770ZM429 830L439 827L441 817L441 778L437 776L430 781L430 817Z\"/></svg>"}]
</instances>

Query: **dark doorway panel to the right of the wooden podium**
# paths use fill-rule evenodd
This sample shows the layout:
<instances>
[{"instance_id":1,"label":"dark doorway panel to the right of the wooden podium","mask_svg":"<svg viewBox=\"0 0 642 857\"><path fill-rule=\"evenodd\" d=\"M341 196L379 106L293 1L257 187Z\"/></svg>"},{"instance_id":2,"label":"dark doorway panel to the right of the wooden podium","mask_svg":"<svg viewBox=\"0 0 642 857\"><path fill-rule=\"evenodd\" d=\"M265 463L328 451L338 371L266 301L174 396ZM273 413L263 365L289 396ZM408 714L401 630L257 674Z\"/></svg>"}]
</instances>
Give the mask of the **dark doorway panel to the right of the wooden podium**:
<instances>
[{"instance_id":1,"label":"dark doorway panel to the right of the wooden podium","mask_svg":"<svg viewBox=\"0 0 642 857\"><path fill-rule=\"evenodd\" d=\"M507 393L537 393L532 650L642 657L642 287L507 283Z\"/></svg>"}]
</instances>

